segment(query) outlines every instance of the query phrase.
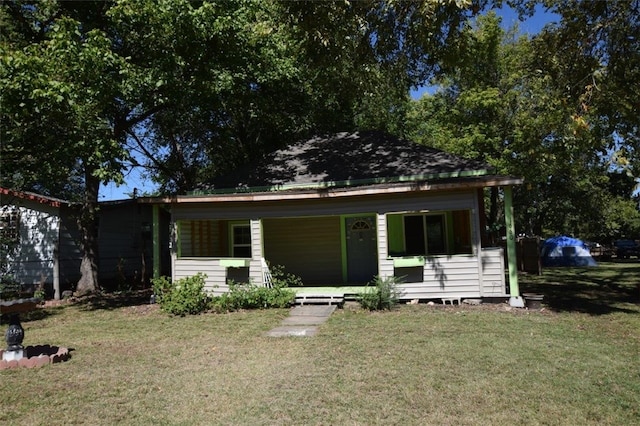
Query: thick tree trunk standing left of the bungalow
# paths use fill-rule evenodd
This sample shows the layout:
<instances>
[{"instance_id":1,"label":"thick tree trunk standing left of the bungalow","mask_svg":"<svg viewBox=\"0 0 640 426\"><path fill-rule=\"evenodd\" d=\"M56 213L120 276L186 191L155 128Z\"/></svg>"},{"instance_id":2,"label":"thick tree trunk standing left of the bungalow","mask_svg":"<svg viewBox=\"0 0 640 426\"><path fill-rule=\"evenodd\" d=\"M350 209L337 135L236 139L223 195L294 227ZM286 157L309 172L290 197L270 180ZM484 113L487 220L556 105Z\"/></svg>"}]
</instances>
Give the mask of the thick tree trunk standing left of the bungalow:
<instances>
[{"instance_id":1,"label":"thick tree trunk standing left of the bungalow","mask_svg":"<svg viewBox=\"0 0 640 426\"><path fill-rule=\"evenodd\" d=\"M100 180L94 177L91 170L86 171L85 194L82 203L78 227L80 229L82 262L80 263L80 281L76 286L76 294L83 296L94 293L98 284L98 190Z\"/></svg>"}]
</instances>

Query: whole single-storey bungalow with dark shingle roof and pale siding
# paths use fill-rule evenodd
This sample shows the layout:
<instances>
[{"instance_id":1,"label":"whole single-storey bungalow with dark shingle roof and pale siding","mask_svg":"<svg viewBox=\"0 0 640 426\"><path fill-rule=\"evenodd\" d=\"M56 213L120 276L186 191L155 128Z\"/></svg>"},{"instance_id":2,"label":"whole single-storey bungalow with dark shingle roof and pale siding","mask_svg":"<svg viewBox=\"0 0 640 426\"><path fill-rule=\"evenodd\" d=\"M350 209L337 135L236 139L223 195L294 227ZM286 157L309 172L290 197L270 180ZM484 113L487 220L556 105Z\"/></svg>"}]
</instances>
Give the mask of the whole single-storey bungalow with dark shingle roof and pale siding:
<instances>
[{"instance_id":1,"label":"whole single-storey bungalow with dark shingle roof and pale siding","mask_svg":"<svg viewBox=\"0 0 640 426\"><path fill-rule=\"evenodd\" d=\"M172 278L205 273L216 294L230 280L267 285L272 264L317 291L396 277L402 299L510 296L521 306L511 215L521 183L360 132L303 140L189 195L139 201L170 206ZM482 244L487 187L504 190L508 279L503 249Z\"/></svg>"}]
</instances>

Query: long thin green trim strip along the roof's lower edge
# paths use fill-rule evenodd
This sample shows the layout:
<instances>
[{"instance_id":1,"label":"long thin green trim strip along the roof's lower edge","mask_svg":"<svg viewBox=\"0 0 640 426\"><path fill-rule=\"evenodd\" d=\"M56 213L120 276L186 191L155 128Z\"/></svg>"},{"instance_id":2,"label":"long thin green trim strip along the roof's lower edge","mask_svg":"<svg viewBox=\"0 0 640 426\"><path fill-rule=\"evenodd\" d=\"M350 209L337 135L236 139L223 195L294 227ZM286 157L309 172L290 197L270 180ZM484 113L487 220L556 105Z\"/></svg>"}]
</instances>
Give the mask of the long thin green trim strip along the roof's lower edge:
<instances>
[{"instance_id":1,"label":"long thin green trim strip along the roof's lower edge","mask_svg":"<svg viewBox=\"0 0 640 426\"><path fill-rule=\"evenodd\" d=\"M383 177L371 179L350 179L339 180L333 182L310 182L310 183L289 183L284 185L264 185L264 186L248 186L245 188L222 188L214 190L198 190L190 191L187 195L211 195L211 194L234 194L249 192L275 192L286 191L290 189L327 189L337 187L350 187L360 185L374 185L381 183L400 183L400 182L416 182L423 180L448 179L461 177L477 177L489 174L489 170L463 170L461 172L450 173L430 173L422 175Z\"/></svg>"}]
</instances>

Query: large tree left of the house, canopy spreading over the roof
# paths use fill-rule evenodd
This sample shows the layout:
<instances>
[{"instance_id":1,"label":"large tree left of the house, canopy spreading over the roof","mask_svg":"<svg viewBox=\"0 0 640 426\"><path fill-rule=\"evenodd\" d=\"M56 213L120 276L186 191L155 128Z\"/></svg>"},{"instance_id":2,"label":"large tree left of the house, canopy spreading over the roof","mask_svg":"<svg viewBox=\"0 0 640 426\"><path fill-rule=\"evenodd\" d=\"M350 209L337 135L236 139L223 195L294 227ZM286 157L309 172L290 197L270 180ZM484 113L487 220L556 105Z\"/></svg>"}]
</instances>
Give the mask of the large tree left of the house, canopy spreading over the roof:
<instances>
[{"instance_id":1,"label":"large tree left of the house, canopy spreading over the roof","mask_svg":"<svg viewBox=\"0 0 640 426\"><path fill-rule=\"evenodd\" d=\"M3 2L1 184L60 195L82 183L77 291L91 292L101 183L141 163L184 191L300 135L383 126L455 57L470 6Z\"/></svg>"}]
</instances>

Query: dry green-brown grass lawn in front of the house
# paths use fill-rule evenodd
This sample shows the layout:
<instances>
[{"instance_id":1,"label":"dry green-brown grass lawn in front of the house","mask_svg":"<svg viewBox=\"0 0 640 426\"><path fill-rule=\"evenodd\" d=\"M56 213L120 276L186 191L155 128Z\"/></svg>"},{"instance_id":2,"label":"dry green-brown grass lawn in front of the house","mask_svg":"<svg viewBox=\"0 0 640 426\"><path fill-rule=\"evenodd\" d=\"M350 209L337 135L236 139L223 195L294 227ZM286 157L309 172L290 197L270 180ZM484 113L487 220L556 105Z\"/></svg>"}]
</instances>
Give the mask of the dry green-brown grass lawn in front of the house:
<instances>
[{"instance_id":1,"label":"dry green-brown grass lawn in front of the house","mask_svg":"<svg viewBox=\"0 0 640 426\"><path fill-rule=\"evenodd\" d=\"M25 345L73 356L0 372L0 423L640 424L639 278L635 264L546 270L521 277L542 311L348 307L312 338L264 336L287 310L46 308Z\"/></svg>"}]
</instances>

